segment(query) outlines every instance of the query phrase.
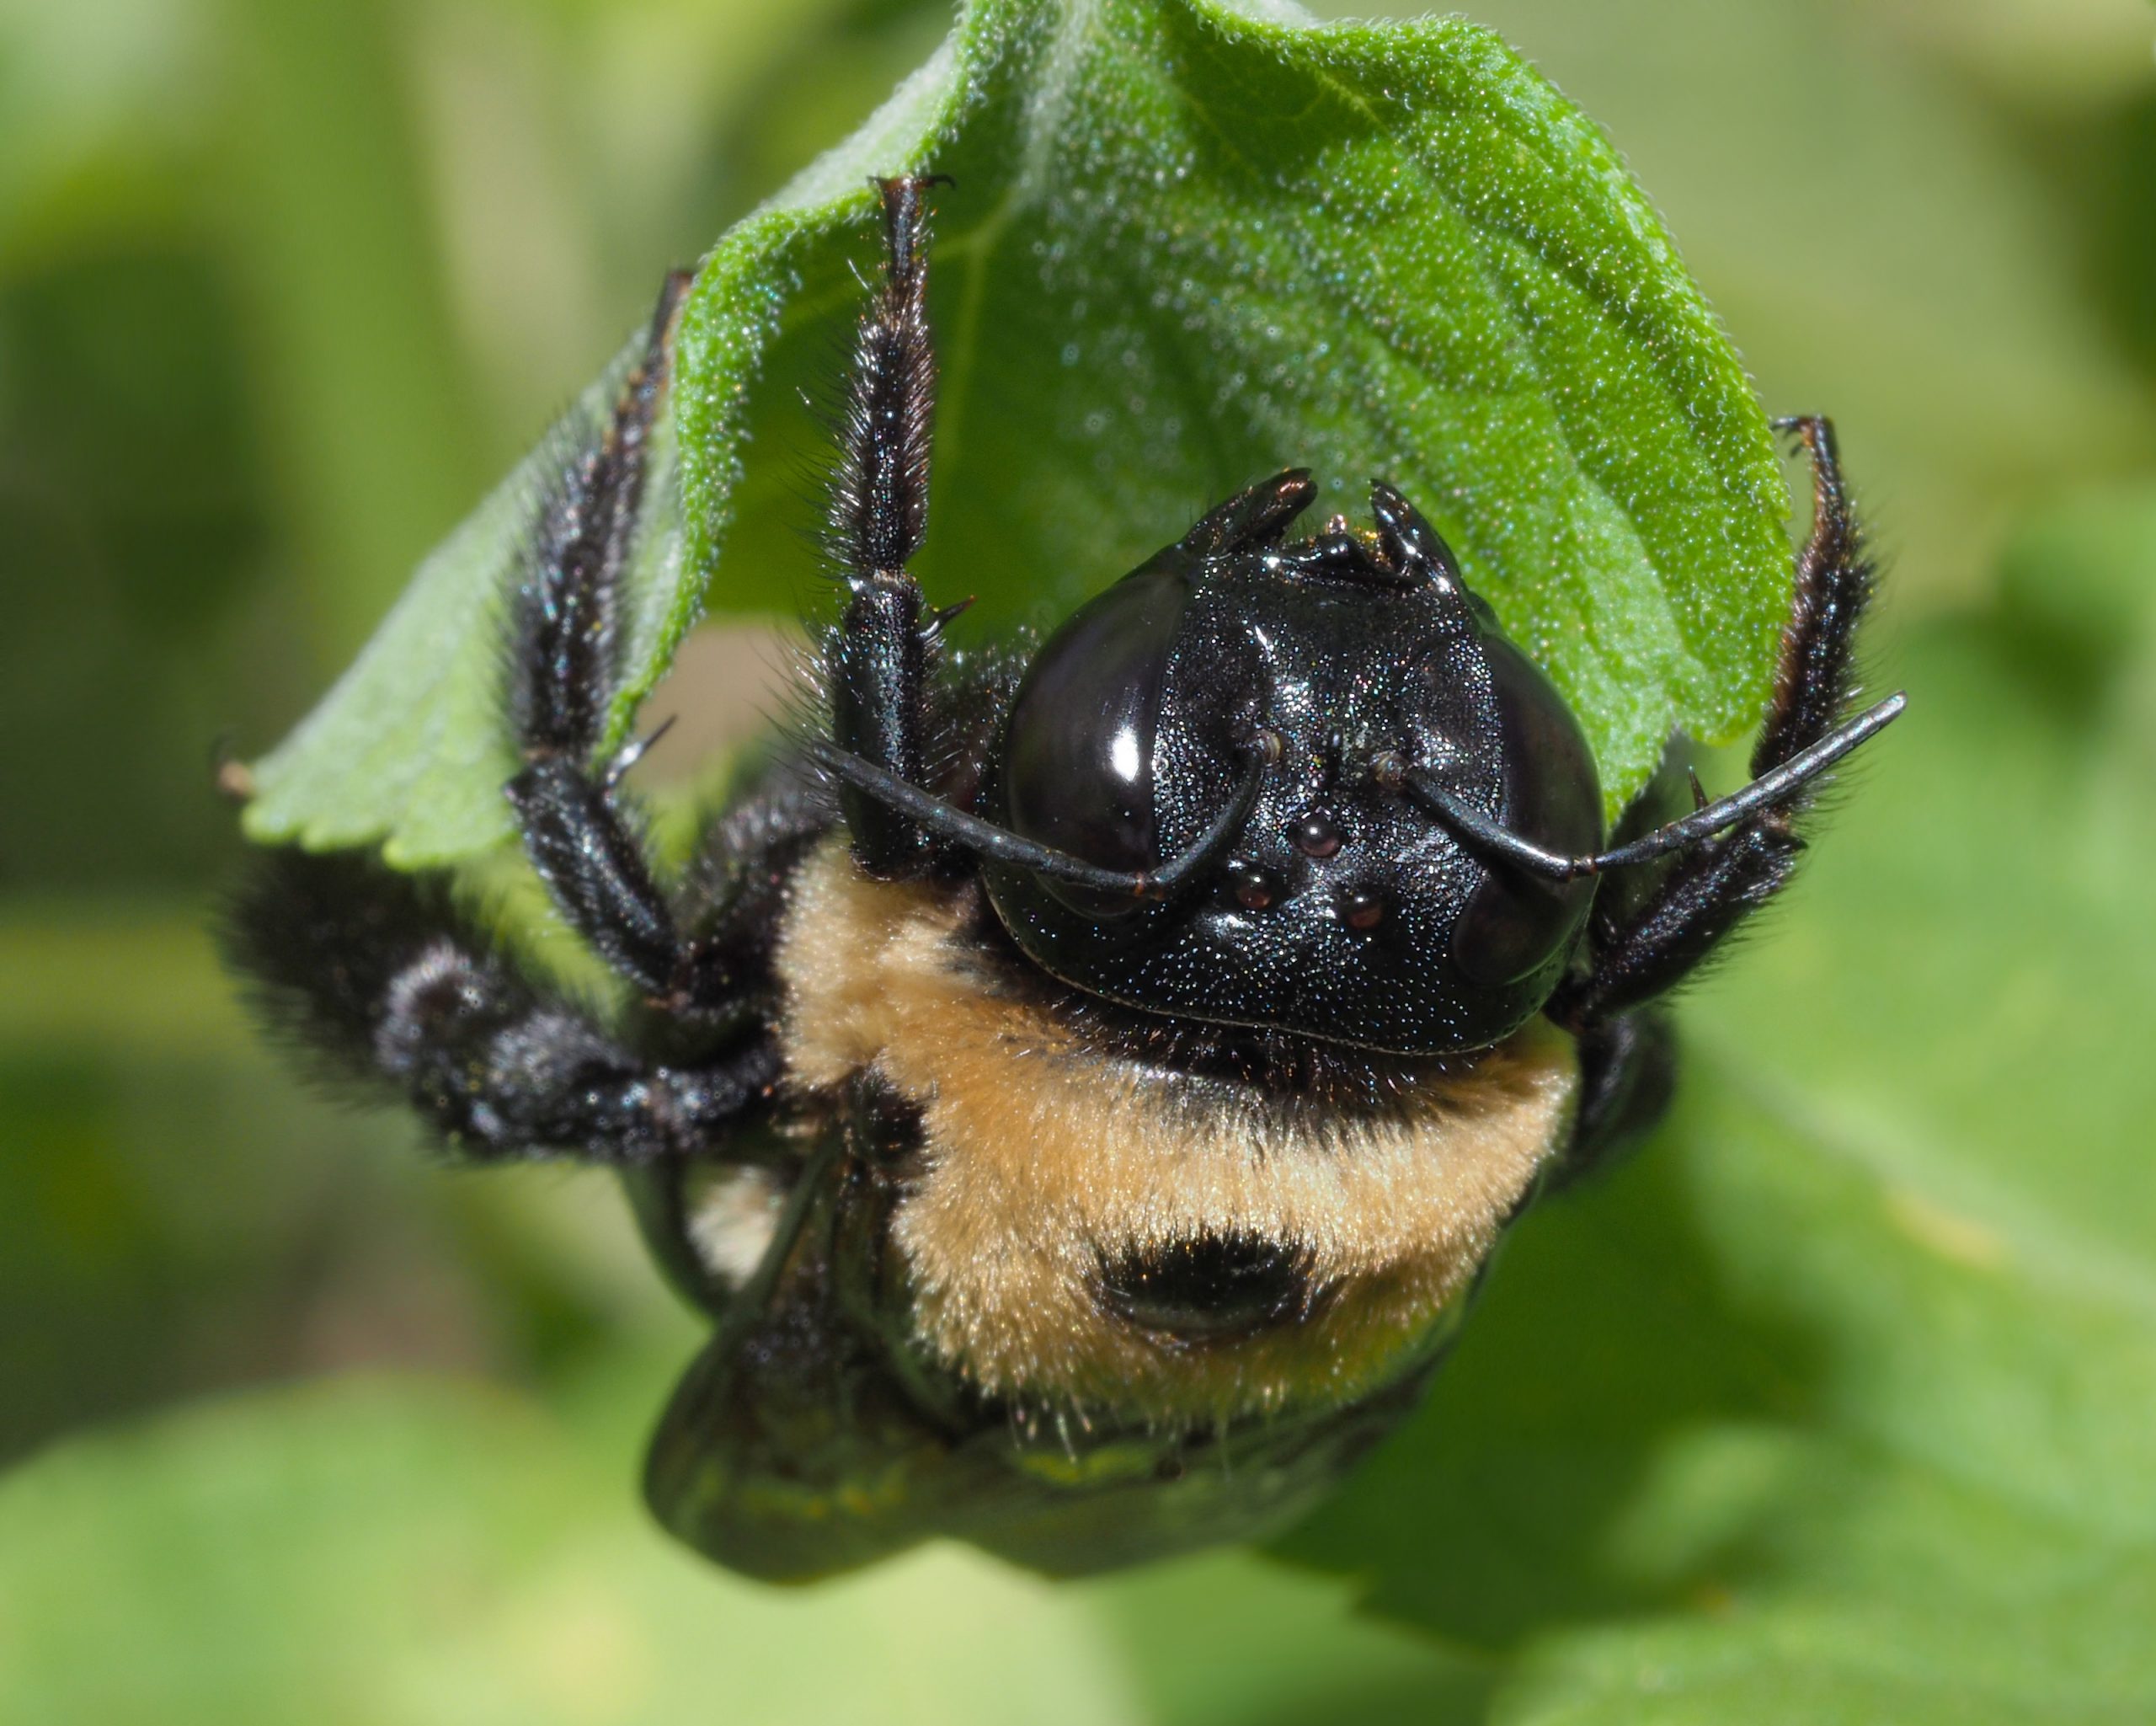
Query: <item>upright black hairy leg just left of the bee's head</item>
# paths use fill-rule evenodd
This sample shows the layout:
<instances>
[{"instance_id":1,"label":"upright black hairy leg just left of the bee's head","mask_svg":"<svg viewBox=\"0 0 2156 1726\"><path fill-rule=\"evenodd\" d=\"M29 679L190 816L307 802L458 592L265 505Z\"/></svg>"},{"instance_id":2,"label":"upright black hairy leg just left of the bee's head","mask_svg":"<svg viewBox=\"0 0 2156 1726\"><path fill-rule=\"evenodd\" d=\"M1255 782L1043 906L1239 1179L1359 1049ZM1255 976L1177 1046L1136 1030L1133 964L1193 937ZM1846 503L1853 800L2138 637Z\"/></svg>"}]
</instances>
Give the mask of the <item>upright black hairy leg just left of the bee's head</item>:
<instances>
[{"instance_id":1,"label":"upright black hairy leg just left of the bee's head","mask_svg":"<svg viewBox=\"0 0 2156 1726\"><path fill-rule=\"evenodd\" d=\"M940 177L882 179L884 265L860 317L839 419L828 544L847 585L824 647L830 740L906 785L927 785L929 690L949 613L931 613L906 565L929 509L936 347L927 317L927 203ZM936 841L910 813L841 790L856 861L875 876L929 867Z\"/></svg>"}]
</instances>

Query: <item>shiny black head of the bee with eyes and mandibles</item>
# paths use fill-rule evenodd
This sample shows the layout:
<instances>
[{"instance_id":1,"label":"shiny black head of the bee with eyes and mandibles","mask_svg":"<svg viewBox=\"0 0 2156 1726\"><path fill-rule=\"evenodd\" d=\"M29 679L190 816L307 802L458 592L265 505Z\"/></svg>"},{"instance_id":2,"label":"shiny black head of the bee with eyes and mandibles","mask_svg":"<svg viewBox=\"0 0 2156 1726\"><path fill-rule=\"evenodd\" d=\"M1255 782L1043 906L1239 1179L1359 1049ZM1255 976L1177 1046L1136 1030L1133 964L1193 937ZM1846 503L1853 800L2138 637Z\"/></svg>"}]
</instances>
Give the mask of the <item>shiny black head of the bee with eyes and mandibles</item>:
<instances>
[{"instance_id":1,"label":"shiny black head of the bee with eyes and mandibles","mask_svg":"<svg viewBox=\"0 0 2156 1726\"><path fill-rule=\"evenodd\" d=\"M1559 852L1602 839L1578 721L1388 485L1373 533L1283 544L1304 472L1231 498L1078 611L1011 703L990 809L1108 869L1201 841L1257 764L1216 863L1162 902L985 863L1041 969L1145 1012L1442 1053L1548 999L1593 880L1466 850L1408 792L1436 779Z\"/></svg>"}]
</instances>

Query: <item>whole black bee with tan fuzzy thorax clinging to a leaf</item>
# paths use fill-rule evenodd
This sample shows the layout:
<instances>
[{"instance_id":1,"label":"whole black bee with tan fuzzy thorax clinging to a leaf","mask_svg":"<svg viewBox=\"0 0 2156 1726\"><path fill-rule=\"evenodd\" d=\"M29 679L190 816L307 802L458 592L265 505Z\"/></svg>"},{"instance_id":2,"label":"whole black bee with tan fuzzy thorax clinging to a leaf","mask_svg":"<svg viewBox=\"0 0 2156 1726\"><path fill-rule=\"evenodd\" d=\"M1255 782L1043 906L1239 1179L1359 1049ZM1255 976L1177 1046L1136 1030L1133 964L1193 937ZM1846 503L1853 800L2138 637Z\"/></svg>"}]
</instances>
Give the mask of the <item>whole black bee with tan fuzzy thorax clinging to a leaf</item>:
<instances>
[{"instance_id":1,"label":"whole black bee with tan fuzzy thorax clinging to a leaf","mask_svg":"<svg viewBox=\"0 0 2156 1726\"><path fill-rule=\"evenodd\" d=\"M621 1172L709 1314L651 1446L675 1534L759 1577L931 1534L1072 1575L1261 1536L1414 1407L1529 1200L1667 1105L1658 999L1770 900L1852 712L1871 565L1826 421L1755 779L1613 835L1565 701L1414 505L1296 537L1263 479L1033 652L908 574L931 179L882 181L813 721L662 885L602 755L686 276L539 513L509 781L599 1016L446 882L265 852L267 1016L455 1156Z\"/></svg>"}]
</instances>

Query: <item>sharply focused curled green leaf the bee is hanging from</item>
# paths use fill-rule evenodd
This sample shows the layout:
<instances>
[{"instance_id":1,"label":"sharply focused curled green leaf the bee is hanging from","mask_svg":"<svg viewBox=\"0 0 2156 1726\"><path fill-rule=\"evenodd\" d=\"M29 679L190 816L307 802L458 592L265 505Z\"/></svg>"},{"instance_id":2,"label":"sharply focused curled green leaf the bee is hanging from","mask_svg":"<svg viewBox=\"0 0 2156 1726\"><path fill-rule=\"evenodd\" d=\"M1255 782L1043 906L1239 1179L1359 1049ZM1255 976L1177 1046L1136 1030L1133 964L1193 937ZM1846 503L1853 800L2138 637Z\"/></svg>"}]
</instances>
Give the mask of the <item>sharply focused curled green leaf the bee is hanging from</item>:
<instances>
[{"instance_id":1,"label":"sharply focused curled green leaf the bee is hanging from","mask_svg":"<svg viewBox=\"0 0 2156 1726\"><path fill-rule=\"evenodd\" d=\"M981 0L705 259L677 356L679 557L634 583L625 736L709 604L815 604L804 462L871 257L867 177L934 166L931 595L1052 619L1289 464L1401 483L1580 712L1611 807L1673 725L1757 714L1787 492L1744 371L1608 140L1460 19ZM535 457L535 460L545 460ZM535 470L420 572L257 768L257 839L407 865L509 833L496 617Z\"/></svg>"}]
</instances>

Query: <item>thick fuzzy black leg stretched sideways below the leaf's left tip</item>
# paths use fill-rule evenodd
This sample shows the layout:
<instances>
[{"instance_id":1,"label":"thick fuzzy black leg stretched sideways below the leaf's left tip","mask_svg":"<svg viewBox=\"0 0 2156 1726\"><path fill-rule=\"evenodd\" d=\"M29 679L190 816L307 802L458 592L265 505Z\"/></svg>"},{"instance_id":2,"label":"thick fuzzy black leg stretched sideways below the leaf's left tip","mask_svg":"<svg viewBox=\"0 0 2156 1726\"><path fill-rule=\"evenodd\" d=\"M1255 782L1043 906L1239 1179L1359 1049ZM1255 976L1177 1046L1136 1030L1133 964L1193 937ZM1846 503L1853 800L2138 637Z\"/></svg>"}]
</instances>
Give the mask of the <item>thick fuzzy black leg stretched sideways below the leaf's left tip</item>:
<instances>
[{"instance_id":1,"label":"thick fuzzy black leg stretched sideways below the leaf's left tip","mask_svg":"<svg viewBox=\"0 0 2156 1726\"><path fill-rule=\"evenodd\" d=\"M224 949L323 1077L401 1096L479 1163L688 1156L780 1077L768 1038L692 1066L640 1059L520 971L442 878L360 852L265 852Z\"/></svg>"}]
</instances>

